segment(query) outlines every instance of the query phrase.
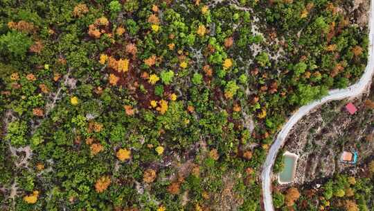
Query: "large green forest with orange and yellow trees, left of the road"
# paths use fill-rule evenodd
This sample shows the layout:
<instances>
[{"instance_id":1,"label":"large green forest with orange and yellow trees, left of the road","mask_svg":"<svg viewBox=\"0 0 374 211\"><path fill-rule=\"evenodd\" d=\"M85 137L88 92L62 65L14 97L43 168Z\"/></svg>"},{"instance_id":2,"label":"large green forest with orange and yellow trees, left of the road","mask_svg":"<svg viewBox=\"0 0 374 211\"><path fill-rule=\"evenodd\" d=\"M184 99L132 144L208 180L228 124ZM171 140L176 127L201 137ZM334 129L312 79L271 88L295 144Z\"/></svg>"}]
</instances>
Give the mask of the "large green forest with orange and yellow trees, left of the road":
<instances>
[{"instance_id":1,"label":"large green forest with orange and yellow trees, left of the road","mask_svg":"<svg viewBox=\"0 0 374 211\"><path fill-rule=\"evenodd\" d=\"M287 115L366 65L345 1L0 6L2 210L260 210Z\"/></svg>"}]
</instances>

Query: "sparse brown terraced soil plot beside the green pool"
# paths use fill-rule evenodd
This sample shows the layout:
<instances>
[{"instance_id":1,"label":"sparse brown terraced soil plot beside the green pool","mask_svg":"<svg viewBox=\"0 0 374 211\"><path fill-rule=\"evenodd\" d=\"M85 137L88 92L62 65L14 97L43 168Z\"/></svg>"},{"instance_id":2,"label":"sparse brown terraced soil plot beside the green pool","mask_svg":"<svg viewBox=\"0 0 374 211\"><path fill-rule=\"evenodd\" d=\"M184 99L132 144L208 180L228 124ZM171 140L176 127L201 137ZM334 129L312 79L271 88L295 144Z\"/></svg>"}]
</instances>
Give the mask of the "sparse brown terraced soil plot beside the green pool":
<instances>
[{"instance_id":1,"label":"sparse brown terraced soil plot beside the green pool","mask_svg":"<svg viewBox=\"0 0 374 211\"><path fill-rule=\"evenodd\" d=\"M299 155L294 183L310 183L314 180L350 171L356 174L359 165L374 155L374 110L364 101L374 100L374 87L371 95L357 99L335 101L317 108L303 117L292 129L284 146L285 151ZM345 108L348 102L357 107L355 115ZM343 151L357 151L357 164L340 162ZM283 185L287 187L287 185Z\"/></svg>"}]
</instances>

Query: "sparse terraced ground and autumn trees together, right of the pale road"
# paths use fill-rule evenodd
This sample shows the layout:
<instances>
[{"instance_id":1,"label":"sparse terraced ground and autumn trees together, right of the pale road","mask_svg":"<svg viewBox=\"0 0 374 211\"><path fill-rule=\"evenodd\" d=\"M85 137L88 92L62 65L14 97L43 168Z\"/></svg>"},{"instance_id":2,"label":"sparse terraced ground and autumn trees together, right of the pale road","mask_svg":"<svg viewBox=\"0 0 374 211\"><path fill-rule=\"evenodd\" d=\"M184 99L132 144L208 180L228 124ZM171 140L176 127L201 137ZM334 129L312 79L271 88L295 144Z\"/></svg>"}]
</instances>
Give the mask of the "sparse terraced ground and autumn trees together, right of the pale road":
<instances>
[{"instance_id":1,"label":"sparse terraced ground and autumn trees together, right of the pale road","mask_svg":"<svg viewBox=\"0 0 374 211\"><path fill-rule=\"evenodd\" d=\"M276 210L373 210L373 101L372 83L370 92L326 103L299 121L278 153L276 170L282 169L284 151L301 156L294 184L274 185ZM348 115L348 102L357 107L354 115ZM342 151L357 152L357 162L341 162Z\"/></svg>"}]
</instances>

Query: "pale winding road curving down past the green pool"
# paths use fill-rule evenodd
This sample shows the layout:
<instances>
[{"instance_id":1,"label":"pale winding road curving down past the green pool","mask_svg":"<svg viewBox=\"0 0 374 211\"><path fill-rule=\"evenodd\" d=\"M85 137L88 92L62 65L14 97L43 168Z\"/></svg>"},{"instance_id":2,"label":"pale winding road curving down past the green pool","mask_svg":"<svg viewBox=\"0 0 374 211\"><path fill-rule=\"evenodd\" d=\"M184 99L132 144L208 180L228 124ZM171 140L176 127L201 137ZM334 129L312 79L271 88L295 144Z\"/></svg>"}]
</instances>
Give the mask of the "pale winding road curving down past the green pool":
<instances>
[{"instance_id":1,"label":"pale winding road curving down past the green pool","mask_svg":"<svg viewBox=\"0 0 374 211\"><path fill-rule=\"evenodd\" d=\"M330 90L328 92L328 95L323 97L320 100L313 101L312 103L308 105L304 105L303 107L299 108L294 114L288 119L287 123L283 126L282 130L278 133L278 136L276 137L276 140L271 145L271 148L269 149L269 152L267 154L267 158L262 165L262 195L263 195L263 202L264 202L264 208L265 211L274 211L273 206L273 200L271 196L271 171L272 167L274 165L274 162L276 160L276 155L278 154L279 149L281 146L283 146L285 142L285 138L287 137L287 134L290 132L292 127L304 116L308 115L308 113L313 110L313 108L316 108L319 105L322 105L323 103L326 103L328 101L335 101L340 99L345 99L348 97L354 97L358 96L359 94L362 94L365 92L368 87L371 85L371 78L373 77L374 73L374 47L373 47L373 39L374 39L374 0L371 0L371 6L370 6L370 19L369 19L369 47L368 47L368 64L366 66L366 69L364 71L364 74L362 75L362 78L355 83L354 85L351 85L350 87L347 87L346 89L342 90Z\"/></svg>"}]
</instances>

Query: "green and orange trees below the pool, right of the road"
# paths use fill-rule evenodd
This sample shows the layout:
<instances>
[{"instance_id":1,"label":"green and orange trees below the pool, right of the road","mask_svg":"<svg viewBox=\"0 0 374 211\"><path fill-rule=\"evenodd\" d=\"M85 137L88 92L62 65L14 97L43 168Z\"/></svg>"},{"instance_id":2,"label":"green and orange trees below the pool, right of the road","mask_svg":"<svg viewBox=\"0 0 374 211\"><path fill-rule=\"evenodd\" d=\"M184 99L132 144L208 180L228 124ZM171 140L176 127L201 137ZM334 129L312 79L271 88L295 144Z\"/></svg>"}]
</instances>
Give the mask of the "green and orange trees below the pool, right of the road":
<instances>
[{"instance_id":1,"label":"green and orange trees below the pool, right of the road","mask_svg":"<svg viewBox=\"0 0 374 211\"><path fill-rule=\"evenodd\" d=\"M274 194L274 206L279 210L373 210L374 161L357 176L340 174L323 182L322 185L309 184L287 189L282 194ZM288 207L288 208L287 208Z\"/></svg>"}]
</instances>

